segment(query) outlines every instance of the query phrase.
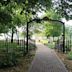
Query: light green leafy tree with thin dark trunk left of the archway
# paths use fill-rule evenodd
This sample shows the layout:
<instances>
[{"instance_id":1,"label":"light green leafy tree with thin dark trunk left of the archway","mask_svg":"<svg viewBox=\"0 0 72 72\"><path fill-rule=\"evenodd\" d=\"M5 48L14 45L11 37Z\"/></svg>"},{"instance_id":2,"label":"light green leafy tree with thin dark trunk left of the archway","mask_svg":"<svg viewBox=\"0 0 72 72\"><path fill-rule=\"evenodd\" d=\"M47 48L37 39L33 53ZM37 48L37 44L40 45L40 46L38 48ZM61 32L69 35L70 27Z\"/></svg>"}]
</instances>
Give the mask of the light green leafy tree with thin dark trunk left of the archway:
<instances>
[{"instance_id":1,"label":"light green leafy tree with thin dark trunk left of the archway","mask_svg":"<svg viewBox=\"0 0 72 72\"><path fill-rule=\"evenodd\" d=\"M15 1L9 2L5 8L9 11L9 13L12 16L12 21L9 24L10 30L12 30L12 36L11 36L11 43L13 43L13 35L17 32L16 26L20 27L24 24L25 21L25 15L20 14L22 6L17 4ZM19 40L18 40L19 41ZM19 43L19 42L18 42Z\"/></svg>"}]
</instances>

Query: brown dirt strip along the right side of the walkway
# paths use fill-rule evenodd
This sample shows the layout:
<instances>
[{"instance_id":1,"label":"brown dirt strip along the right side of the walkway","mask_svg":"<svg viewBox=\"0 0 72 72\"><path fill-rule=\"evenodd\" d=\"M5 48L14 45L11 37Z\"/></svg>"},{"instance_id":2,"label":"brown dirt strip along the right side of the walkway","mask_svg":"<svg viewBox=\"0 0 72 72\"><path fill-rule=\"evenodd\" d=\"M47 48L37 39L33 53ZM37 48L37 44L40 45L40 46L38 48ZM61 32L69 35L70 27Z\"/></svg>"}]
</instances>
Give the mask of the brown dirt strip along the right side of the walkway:
<instances>
[{"instance_id":1,"label":"brown dirt strip along the right side of the walkway","mask_svg":"<svg viewBox=\"0 0 72 72\"><path fill-rule=\"evenodd\" d=\"M72 72L72 60L67 59L67 54L63 54L61 52L56 51L59 58L63 61L66 68L68 69L68 72Z\"/></svg>"}]
</instances>

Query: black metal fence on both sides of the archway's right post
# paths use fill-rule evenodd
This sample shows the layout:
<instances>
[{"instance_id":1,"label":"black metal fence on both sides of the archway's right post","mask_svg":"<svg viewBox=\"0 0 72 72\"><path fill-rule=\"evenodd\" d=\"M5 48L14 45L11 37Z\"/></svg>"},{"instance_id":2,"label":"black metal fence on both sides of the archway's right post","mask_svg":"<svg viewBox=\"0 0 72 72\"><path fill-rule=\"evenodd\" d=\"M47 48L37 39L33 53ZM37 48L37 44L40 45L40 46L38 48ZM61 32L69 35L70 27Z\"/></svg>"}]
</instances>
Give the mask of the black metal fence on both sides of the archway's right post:
<instances>
[{"instance_id":1,"label":"black metal fence on both sides of the archway's right post","mask_svg":"<svg viewBox=\"0 0 72 72\"><path fill-rule=\"evenodd\" d=\"M55 43L55 49L58 50L58 52L63 52L63 41L61 39L58 39ZM65 53L72 50L72 44L71 40L65 39Z\"/></svg>"}]
</instances>

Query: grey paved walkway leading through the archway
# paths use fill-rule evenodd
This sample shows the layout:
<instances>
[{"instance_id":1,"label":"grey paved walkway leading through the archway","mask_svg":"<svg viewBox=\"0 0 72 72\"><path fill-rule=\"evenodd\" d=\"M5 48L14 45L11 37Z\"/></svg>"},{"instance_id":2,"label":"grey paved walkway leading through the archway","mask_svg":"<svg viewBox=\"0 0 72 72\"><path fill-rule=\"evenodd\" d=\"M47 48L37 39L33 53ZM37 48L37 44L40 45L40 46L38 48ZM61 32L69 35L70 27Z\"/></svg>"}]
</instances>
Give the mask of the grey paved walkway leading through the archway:
<instances>
[{"instance_id":1,"label":"grey paved walkway leading through the archway","mask_svg":"<svg viewBox=\"0 0 72 72\"><path fill-rule=\"evenodd\" d=\"M29 72L68 72L52 49L42 44L37 44L37 48Z\"/></svg>"}]
</instances>

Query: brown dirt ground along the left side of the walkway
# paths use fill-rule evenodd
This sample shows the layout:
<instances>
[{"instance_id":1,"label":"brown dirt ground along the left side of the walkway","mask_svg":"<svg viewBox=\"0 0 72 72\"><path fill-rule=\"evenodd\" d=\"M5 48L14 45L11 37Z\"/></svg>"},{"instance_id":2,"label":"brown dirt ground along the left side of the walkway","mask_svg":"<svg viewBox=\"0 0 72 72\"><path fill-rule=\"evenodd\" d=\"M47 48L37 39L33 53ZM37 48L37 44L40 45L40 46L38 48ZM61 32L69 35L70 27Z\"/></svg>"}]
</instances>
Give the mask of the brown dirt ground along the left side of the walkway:
<instances>
[{"instance_id":1,"label":"brown dirt ground along the left side of the walkway","mask_svg":"<svg viewBox=\"0 0 72 72\"><path fill-rule=\"evenodd\" d=\"M19 59L19 64L17 66L0 69L0 72L27 72L34 56L35 50L32 50L25 57Z\"/></svg>"}]
</instances>

